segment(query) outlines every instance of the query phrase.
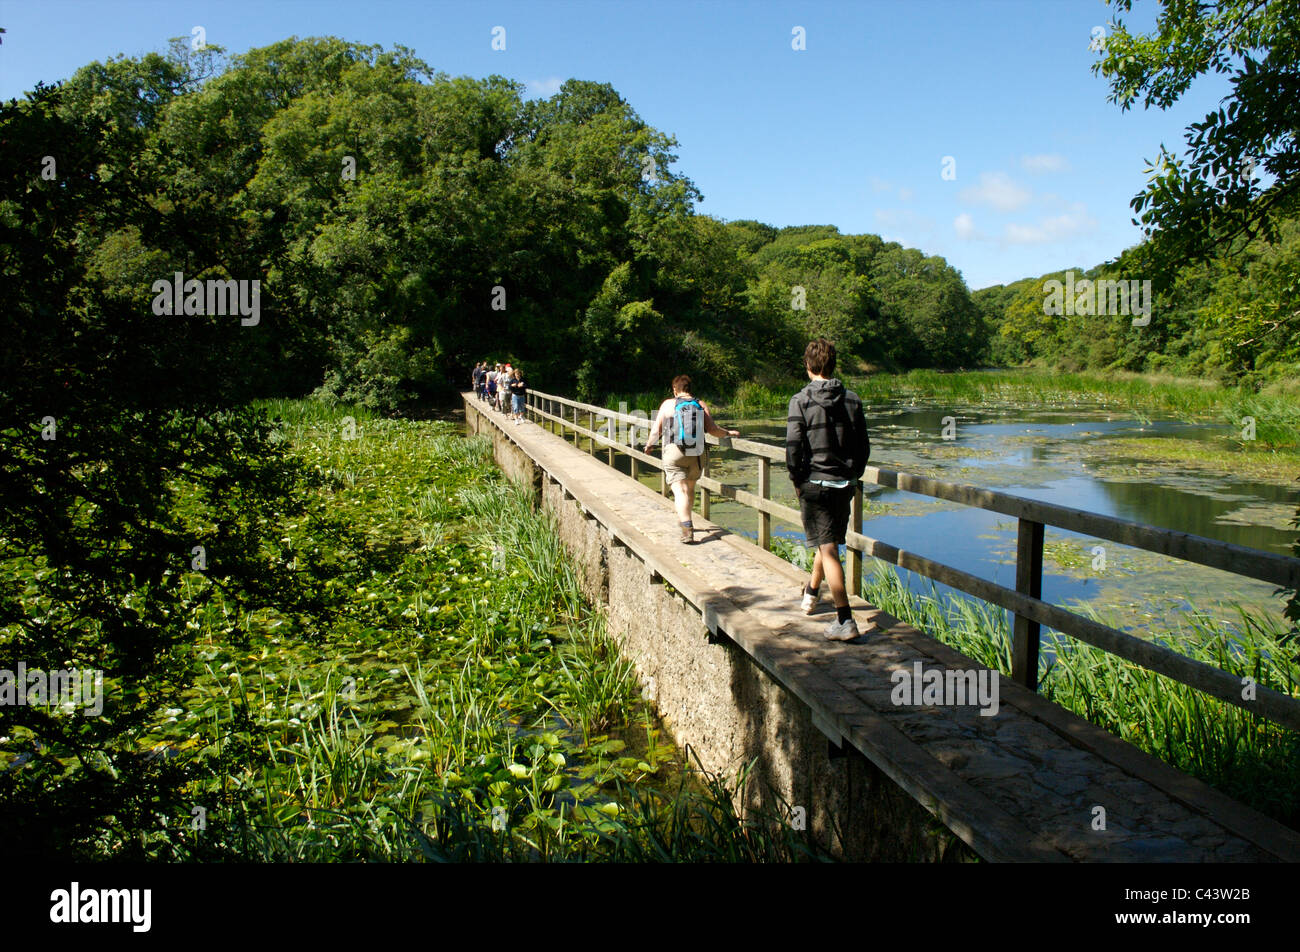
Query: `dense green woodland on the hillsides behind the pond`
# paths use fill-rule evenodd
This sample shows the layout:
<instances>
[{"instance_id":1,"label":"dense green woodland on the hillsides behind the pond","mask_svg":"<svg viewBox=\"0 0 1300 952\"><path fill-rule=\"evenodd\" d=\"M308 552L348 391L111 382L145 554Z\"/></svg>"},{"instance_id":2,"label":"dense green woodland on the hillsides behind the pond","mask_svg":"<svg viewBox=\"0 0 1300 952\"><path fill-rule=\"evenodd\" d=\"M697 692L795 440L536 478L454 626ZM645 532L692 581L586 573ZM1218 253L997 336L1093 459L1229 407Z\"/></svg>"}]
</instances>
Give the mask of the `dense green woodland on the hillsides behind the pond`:
<instances>
[{"instance_id":1,"label":"dense green woodland on the hillsides behind the pond","mask_svg":"<svg viewBox=\"0 0 1300 952\"><path fill-rule=\"evenodd\" d=\"M69 255L60 285L10 282L17 303L56 313L70 293L117 312L114 336L204 341L226 398L404 411L484 358L589 398L658 389L666 367L725 393L797 373L815 334L858 368L1036 360L1235 382L1300 360L1294 220L1191 267L1161 269L1143 246L1080 265L1152 280L1153 319L1062 319L1044 281L1063 272L972 294L942 258L876 235L696 213L675 139L607 85L526 100L400 48L286 40L226 61L177 43L5 107L4 140L5 228L39 242L57 226ZM159 319L151 287L176 272L257 280L259 323Z\"/></svg>"}]
</instances>

